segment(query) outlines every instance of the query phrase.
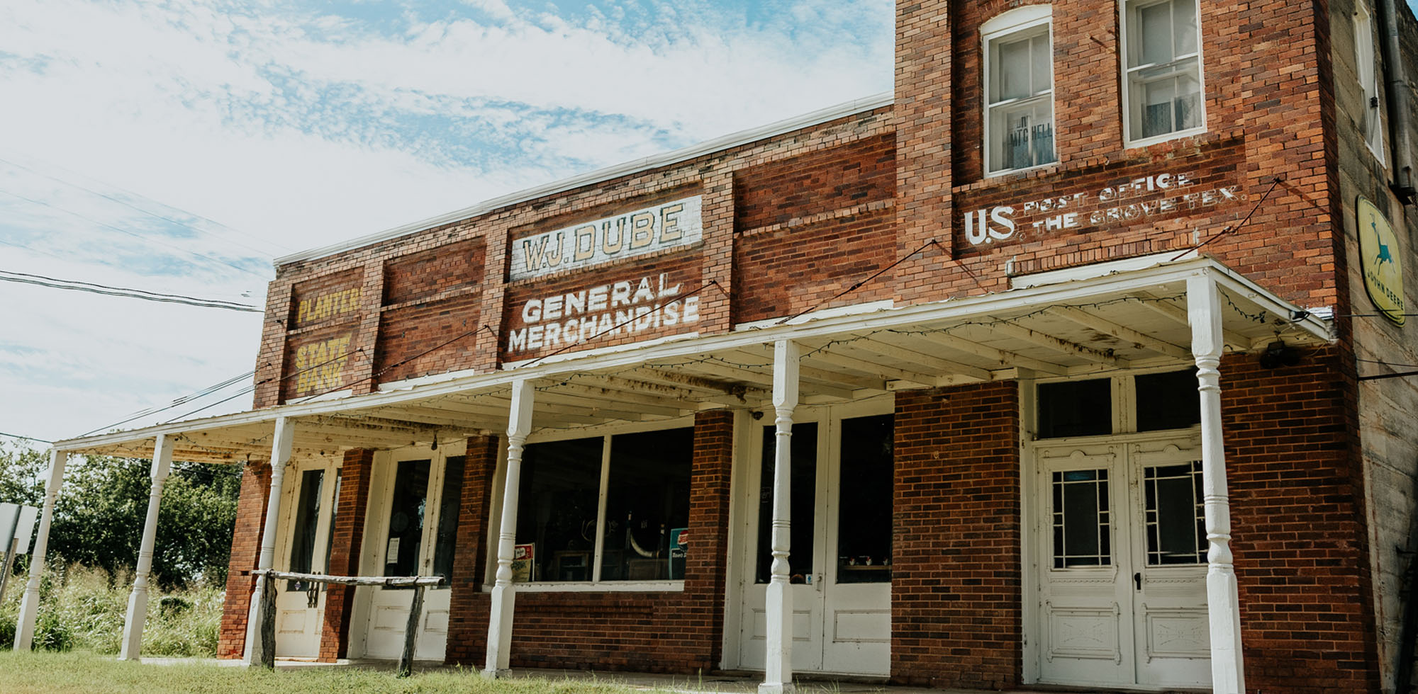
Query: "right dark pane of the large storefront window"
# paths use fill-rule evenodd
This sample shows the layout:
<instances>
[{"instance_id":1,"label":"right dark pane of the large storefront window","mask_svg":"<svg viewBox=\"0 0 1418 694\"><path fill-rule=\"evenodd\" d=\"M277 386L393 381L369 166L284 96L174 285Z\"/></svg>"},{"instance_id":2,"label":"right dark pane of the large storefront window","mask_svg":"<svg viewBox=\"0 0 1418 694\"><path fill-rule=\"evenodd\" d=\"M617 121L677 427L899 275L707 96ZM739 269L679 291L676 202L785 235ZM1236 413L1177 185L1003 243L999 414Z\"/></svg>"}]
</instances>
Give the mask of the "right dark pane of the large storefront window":
<instances>
[{"instance_id":1,"label":"right dark pane of the large storefront window","mask_svg":"<svg viewBox=\"0 0 1418 694\"><path fill-rule=\"evenodd\" d=\"M685 578L685 552L672 551L679 545L671 540L689 525L693 433L686 428L611 438L601 581Z\"/></svg>"}]
</instances>

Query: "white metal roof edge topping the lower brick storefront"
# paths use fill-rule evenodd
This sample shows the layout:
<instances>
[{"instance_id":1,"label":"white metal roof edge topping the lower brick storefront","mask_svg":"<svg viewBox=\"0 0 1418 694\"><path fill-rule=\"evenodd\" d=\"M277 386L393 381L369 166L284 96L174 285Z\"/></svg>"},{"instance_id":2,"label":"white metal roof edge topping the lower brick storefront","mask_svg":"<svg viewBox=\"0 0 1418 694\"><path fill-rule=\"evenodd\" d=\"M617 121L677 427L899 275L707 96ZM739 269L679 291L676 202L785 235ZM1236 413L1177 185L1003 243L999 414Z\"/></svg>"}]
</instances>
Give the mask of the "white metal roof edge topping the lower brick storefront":
<instances>
[{"instance_id":1,"label":"white metal roof edge topping the lower brick storefront","mask_svg":"<svg viewBox=\"0 0 1418 694\"><path fill-rule=\"evenodd\" d=\"M377 231L374 234L366 234L363 237L357 237L349 241L342 241L339 244L330 244L320 248L312 248L309 251L299 251L295 254L282 255L274 259L272 265L279 268L282 265L288 265L292 262L313 261L318 258L325 258L354 248L366 246L370 244L377 244L380 241L389 241L391 238L398 238L408 234L417 234L420 231L427 231L435 227L441 227L444 224L491 212L492 210L501 207L525 203L527 200L535 200L545 195L554 195L557 193L566 193L573 188L580 188L583 186L607 181L641 170L678 164L681 161L688 161L691 159L703 154L710 154L713 152L737 147L740 144L747 144L767 137L774 137L803 127L810 127L814 125L825 123L828 120L837 120L839 118L851 116L854 113L862 113L866 110L879 109L882 106L891 106L893 102L895 102L893 92L882 92L872 96L864 96L861 99L852 99L849 102L827 106L818 110L787 118L759 127L739 130L736 133L729 133L720 137L715 137L712 140L700 142L698 144L691 144L688 147L665 152L662 154L655 154L644 159L634 159L630 161L623 161L620 164L608 166L605 169L597 169L594 171L577 174L570 178L562 178L559 181L552 181L543 186L519 190L516 193L509 193L506 195L485 200L482 203L465 207L462 210L454 210L451 212L444 212L437 217L430 217L427 220L404 224L401 227L394 227L391 229Z\"/></svg>"}]
</instances>

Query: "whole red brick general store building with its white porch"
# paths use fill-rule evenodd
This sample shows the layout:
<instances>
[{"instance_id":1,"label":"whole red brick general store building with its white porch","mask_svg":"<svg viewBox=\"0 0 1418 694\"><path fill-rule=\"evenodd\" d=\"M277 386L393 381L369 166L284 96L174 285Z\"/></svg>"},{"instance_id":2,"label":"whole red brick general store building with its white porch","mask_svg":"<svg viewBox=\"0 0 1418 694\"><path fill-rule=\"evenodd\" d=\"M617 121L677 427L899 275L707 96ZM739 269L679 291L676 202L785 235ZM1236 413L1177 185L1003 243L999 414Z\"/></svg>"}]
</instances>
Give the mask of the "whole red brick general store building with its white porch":
<instances>
[{"instance_id":1,"label":"whole red brick general store building with its white porch","mask_svg":"<svg viewBox=\"0 0 1418 694\"><path fill-rule=\"evenodd\" d=\"M493 673L1395 691L1418 21L896 13L892 95L278 259L254 411L54 479L245 466L221 657L274 567ZM279 654L397 657L305 588Z\"/></svg>"}]
</instances>

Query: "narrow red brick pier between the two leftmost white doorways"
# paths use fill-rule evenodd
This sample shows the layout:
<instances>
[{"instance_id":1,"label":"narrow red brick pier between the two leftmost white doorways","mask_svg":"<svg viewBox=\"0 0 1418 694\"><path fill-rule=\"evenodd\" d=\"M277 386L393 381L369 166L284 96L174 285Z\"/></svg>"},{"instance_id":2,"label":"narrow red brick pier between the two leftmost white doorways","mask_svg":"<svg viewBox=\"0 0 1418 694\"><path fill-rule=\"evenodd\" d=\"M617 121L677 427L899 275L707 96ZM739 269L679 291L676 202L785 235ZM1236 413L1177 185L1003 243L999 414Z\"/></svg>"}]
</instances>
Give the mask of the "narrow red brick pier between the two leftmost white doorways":
<instances>
[{"instance_id":1,"label":"narrow red brick pier between the two leftmost white doorways","mask_svg":"<svg viewBox=\"0 0 1418 694\"><path fill-rule=\"evenodd\" d=\"M364 540L364 514L369 510L369 480L373 469L373 450L345 452L345 462L340 465L340 496L335 500L335 527L330 528L333 535L329 569L326 569L332 576L359 575L359 552ZM333 663L347 652L354 588L330 585L326 591L319 660Z\"/></svg>"}]
</instances>

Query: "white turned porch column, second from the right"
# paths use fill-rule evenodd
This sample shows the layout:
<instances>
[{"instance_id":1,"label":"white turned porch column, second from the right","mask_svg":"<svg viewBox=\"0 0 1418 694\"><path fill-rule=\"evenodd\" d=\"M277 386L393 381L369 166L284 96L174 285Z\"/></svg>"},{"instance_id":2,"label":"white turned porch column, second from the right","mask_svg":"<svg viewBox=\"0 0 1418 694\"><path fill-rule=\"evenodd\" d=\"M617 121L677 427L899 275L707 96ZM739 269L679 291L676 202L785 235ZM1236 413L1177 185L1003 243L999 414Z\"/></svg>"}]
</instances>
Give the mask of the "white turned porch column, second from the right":
<instances>
[{"instance_id":1,"label":"white turned porch column, second from the right","mask_svg":"<svg viewBox=\"0 0 1418 694\"><path fill-rule=\"evenodd\" d=\"M793 592L788 588L788 544L793 518L793 411L798 399L798 346L773 346L773 564L764 596L767 657L759 694L793 691Z\"/></svg>"}]
</instances>

